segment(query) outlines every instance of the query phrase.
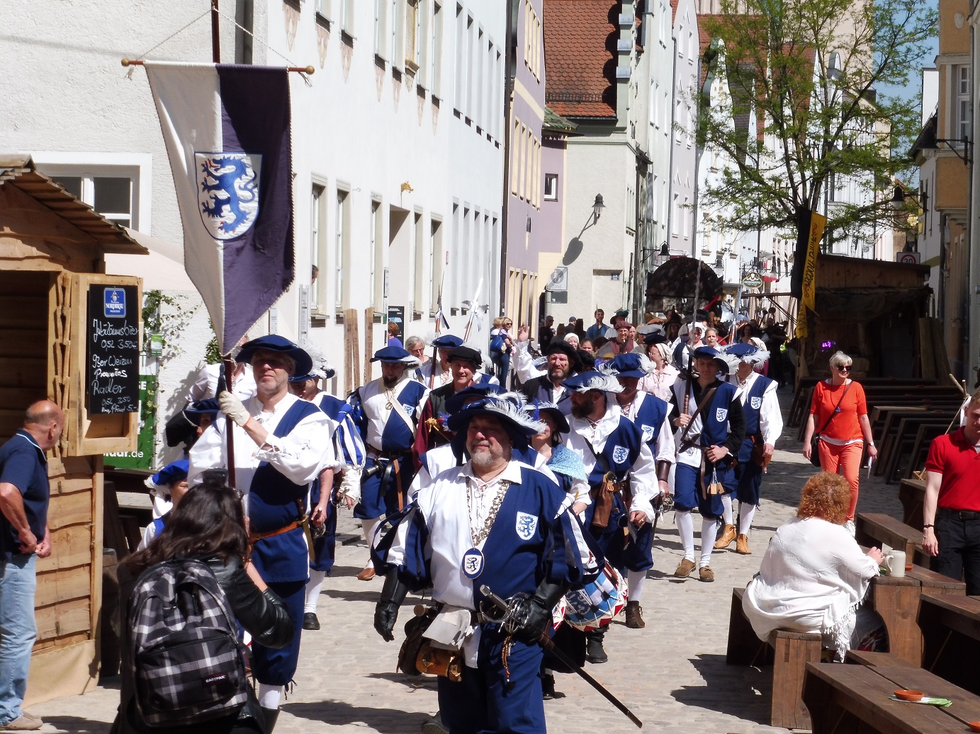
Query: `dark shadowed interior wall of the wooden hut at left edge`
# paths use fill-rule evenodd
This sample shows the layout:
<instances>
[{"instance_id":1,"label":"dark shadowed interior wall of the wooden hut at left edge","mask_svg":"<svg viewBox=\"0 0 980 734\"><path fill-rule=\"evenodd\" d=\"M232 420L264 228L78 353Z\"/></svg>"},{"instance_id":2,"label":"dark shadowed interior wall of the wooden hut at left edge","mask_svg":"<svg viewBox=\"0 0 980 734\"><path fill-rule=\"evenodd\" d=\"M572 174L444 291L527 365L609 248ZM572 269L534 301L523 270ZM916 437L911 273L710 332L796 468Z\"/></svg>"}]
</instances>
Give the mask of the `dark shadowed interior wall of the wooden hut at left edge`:
<instances>
[{"instance_id":1,"label":"dark shadowed interior wall of the wooden hut at left edge","mask_svg":"<svg viewBox=\"0 0 980 734\"><path fill-rule=\"evenodd\" d=\"M0 271L0 443L24 411L47 396L48 291L45 272Z\"/></svg>"}]
</instances>

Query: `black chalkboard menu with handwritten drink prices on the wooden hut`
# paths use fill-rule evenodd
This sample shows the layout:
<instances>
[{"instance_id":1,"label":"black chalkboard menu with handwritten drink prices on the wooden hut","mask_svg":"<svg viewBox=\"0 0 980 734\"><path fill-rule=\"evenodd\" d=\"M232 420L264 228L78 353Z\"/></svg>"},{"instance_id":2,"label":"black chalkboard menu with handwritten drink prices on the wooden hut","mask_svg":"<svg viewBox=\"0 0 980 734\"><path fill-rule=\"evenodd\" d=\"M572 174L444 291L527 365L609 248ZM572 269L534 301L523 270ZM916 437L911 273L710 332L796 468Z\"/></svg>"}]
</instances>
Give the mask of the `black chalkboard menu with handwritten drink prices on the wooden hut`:
<instances>
[{"instance_id":1,"label":"black chalkboard menu with handwritten drink prices on the wooden hut","mask_svg":"<svg viewBox=\"0 0 980 734\"><path fill-rule=\"evenodd\" d=\"M139 315L136 286L88 288L88 412L139 411Z\"/></svg>"}]
</instances>

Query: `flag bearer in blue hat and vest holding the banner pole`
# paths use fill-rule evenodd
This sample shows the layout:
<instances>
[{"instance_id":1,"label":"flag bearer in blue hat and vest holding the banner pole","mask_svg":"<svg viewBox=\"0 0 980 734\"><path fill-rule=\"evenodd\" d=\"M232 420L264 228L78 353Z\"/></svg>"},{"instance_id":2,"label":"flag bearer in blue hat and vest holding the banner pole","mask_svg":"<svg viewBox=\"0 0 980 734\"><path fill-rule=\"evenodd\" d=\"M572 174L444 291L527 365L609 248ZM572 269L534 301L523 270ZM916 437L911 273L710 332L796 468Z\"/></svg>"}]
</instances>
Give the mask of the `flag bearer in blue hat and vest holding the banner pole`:
<instances>
[{"instance_id":1,"label":"flag bearer in blue hat and vest holding the banner pole","mask_svg":"<svg viewBox=\"0 0 980 734\"><path fill-rule=\"evenodd\" d=\"M332 482L338 463L330 419L318 406L288 390L291 374L308 374L312 369L309 354L271 335L245 344L237 359L252 365L257 393L243 403L232 393L221 392L224 416L191 449L188 479L193 483L209 469L228 467L225 432L230 425L235 433L234 483L244 494L252 562L286 604L296 629L293 640L282 649L252 646L259 703L274 717L282 687L292 681L299 662L309 579L304 525L310 483L317 478Z\"/></svg>"}]
</instances>

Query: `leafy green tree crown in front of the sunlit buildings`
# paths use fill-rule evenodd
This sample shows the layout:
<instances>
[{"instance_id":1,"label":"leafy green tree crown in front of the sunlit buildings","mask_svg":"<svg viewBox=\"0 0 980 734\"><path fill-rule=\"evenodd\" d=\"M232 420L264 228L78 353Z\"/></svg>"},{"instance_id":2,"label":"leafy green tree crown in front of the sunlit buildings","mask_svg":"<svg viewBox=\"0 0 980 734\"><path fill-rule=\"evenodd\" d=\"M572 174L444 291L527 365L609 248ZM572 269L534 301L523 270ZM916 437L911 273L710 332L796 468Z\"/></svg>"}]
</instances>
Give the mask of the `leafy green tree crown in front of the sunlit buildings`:
<instances>
[{"instance_id":1,"label":"leafy green tree crown in front of the sunlit buildings","mask_svg":"<svg viewBox=\"0 0 980 734\"><path fill-rule=\"evenodd\" d=\"M910 169L917 101L876 95L906 85L928 53L937 14L922 0L722 0L703 17L713 39L705 61L730 95L699 105L699 143L731 160L699 192L699 208L724 210L737 231L809 229L828 185L857 182L867 201L827 207L827 237L894 222L891 180ZM703 101L704 102L704 101ZM755 113L759 132L733 118ZM875 193L877 195L875 196ZM828 242L825 240L825 242ZM799 258L798 258L799 259Z\"/></svg>"}]
</instances>

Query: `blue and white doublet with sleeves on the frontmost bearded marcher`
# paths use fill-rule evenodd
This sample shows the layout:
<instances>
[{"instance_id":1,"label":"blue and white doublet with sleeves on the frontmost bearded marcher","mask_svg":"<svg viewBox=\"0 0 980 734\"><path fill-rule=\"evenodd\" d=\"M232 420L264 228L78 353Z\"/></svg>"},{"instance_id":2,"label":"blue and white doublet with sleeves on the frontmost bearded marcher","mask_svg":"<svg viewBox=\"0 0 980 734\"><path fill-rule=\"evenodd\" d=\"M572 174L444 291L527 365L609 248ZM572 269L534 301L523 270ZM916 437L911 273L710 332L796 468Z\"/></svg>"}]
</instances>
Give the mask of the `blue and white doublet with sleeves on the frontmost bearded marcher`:
<instances>
[{"instance_id":1,"label":"blue and white doublet with sleeves on the frontmost bearded marcher","mask_svg":"<svg viewBox=\"0 0 980 734\"><path fill-rule=\"evenodd\" d=\"M442 472L419 489L415 501L374 548L375 566L397 568L410 588L432 586L437 602L476 610L486 584L504 598L531 594L538 584L581 583L598 573L597 559L571 514L572 497L542 472L511 461L482 485L470 465ZM505 486L506 485L506 486ZM493 516L494 500L497 504ZM485 539L476 530L493 517ZM482 556L482 565L473 550ZM466 665L476 667L480 627L466 640Z\"/></svg>"}]
</instances>

